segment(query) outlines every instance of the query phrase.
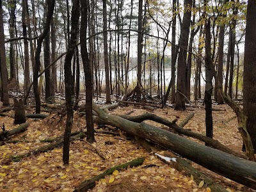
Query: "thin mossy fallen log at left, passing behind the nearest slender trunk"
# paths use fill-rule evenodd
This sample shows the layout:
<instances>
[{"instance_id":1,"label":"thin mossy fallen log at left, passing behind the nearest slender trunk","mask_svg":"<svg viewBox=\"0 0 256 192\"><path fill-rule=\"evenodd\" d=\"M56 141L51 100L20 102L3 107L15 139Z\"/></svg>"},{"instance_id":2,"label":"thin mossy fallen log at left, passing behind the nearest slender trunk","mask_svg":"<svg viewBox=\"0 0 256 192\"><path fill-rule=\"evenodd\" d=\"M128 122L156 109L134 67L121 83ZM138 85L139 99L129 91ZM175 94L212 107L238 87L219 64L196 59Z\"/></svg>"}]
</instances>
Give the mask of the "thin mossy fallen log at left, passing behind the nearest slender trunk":
<instances>
[{"instance_id":1,"label":"thin mossy fallen log at left, passing behind the nearest slender trunk","mask_svg":"<svg viewBox=\"0 0 256 192\"><path fill-rule=\"evenodd\" d=\"M74 138L84 138L84 137L85 137L85 134L83 132L74 136ZM24 154L20 154L19 156L10 156L10 157L8 157L8 159L4 160L2 164L10 164L12 161L18 162L21 159L23 159L24 157L30 157L32 155L47 152L47 151L52 150L56 147L60 147L61 145L63 145L63 140L56 141L54 143L51 143L49 145L45 145L43 147L38 147L38 148L36 148L34 150L30 150L29 152L26 152Z\"/></svg>"}]
</instances>

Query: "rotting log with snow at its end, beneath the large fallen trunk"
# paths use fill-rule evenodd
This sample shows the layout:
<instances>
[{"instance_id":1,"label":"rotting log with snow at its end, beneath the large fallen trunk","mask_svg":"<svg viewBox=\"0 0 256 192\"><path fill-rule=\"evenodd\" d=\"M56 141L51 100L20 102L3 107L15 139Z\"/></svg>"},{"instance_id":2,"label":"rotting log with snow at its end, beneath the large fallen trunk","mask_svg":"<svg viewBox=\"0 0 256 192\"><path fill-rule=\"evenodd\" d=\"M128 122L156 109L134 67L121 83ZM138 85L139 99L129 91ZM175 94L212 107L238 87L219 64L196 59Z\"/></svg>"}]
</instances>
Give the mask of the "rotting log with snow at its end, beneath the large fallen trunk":
<instances>
[{"instance_id":1,"label":"rotting log with snow at its end, beneath the large fallen trunk","mask_svg":"<svg viewBox=\"0 0 256 192\"><path fill-rule=\"evenodd\" d=\"M223 186L212 180L211 177L208 177L204 173L196 170L196 168L189 164L188 161L186 161L186 159L173 156L173 154L171 154L170 152L165 152L164 156L171 158L175 157L176 161L171 161L170 163L172 164L172 167L175 168L175 170L178 170L179 172L184 171L184 174L187 175L188 177L190 175L193 175L193 180L195 180L197 184L204 180L204 188L210 188L211 192L228 192L225 188L223 188Z\"/></svg>"}]
</instances>

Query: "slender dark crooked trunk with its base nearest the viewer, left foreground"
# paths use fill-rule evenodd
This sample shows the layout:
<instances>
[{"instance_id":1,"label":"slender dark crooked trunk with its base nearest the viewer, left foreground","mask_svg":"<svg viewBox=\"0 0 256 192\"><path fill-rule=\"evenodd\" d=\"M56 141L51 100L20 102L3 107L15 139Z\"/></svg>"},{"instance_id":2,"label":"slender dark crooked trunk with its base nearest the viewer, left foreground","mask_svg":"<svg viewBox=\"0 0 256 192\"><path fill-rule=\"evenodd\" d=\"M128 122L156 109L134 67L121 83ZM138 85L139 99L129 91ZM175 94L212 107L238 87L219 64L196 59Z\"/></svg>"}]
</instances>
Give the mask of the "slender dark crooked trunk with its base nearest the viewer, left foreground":
<instances>
[{"instance_id":1,"label":"slender dark crooked trunk with its base nearest the viewer, left foreground","mask_svg":"<svg viewBox=\"0 0 256 192\"><path fill-rule=\"evenodd\" d=\"M65 57L64 69L65 69L65 100L67 108L67 122L63 140L63 163L68 164L69 161L69 142L70 134L73 124L73 102L72 93L74 93L74 82L72 80L71 60L76 49L78 24L79 24L79 0L73 0L72 17L71 17L71 35L68 42L68 51Z\"/></svg>"}]
</instances>

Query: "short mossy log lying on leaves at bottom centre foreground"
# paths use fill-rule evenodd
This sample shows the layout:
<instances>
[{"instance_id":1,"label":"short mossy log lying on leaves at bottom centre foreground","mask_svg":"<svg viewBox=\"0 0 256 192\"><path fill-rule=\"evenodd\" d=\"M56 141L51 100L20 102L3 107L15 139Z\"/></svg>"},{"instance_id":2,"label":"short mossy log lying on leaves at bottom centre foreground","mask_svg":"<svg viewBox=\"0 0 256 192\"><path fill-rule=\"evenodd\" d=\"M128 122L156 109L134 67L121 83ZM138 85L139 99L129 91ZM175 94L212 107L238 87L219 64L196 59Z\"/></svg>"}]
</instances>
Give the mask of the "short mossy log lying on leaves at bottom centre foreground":
<instances>
[{"instance_id":1,"label":"short mossy log lying on leaves at bottom centre foreground","mask_svg":"<svg viewBox=\"0 0 256 192\"><path fill-rule=\"evenodd\" d=\"M130 162L119 164L117 166L114 166L113 168L109 168L104 173L100 173L99 175L92 177L91 179L84 180L75 190L74 192L82 192L82 191L88 191L88 189L93 188L95 186L95 182L97 180L103 179L106 175L111 175L115 170L124 170L128 167L133 166L140 166L145 161L145 157L140 157L138 159L134 159Z\"/></svg>"}]
</instances>

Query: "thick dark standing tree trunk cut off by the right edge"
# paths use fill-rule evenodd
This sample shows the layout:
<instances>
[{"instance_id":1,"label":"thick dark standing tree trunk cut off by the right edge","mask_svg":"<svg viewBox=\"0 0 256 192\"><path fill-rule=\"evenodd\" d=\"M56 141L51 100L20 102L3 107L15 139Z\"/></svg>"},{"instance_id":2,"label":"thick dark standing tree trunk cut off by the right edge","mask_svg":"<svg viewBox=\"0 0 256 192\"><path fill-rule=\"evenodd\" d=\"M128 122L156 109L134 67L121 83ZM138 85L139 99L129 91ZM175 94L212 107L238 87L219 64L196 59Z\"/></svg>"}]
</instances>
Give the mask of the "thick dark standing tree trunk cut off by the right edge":
<instances>
[{"instance_id":1,"label":"thick dark standing tree trunk cut off by the right edge","mask_svg":"<svg viewBox=\"0 0 256 192\"><path fill-rule=\"evenodd\" d=\"M246 128L256 150L256 1L248 0L244 47L244 114Z\"/></svg>"}]
</instances>

